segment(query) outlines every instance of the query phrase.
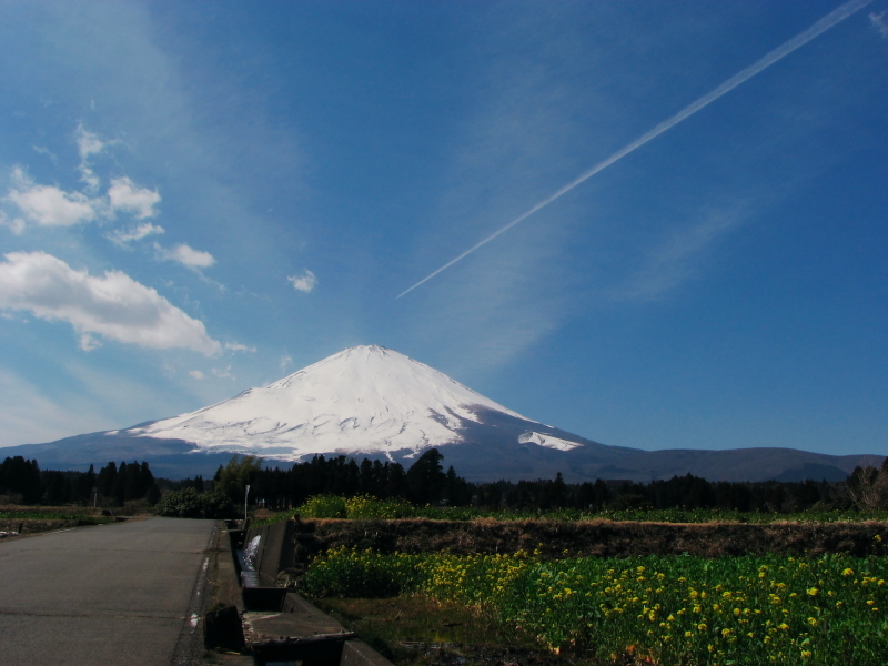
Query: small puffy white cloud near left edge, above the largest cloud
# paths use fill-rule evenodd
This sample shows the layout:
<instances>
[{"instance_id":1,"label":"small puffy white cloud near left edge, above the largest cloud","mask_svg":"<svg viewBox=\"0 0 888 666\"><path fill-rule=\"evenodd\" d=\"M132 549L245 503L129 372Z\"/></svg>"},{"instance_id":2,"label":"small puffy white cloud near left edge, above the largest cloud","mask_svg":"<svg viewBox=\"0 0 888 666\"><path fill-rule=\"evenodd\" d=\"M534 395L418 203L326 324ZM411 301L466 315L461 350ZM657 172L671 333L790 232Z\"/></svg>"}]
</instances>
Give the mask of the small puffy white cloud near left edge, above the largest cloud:
<instances>
[{"instance_id":1,"label":"small puffy white cloud near left edge, above the largest cloud","mask_svg":"<svg viewBox=\"0 0 888 666\"><path fill-rule=\"evenodd\" d=\"M80 192L38 185L19 167L12 170L12 183L6 199L19 206L28 220L43 226L70 226L97 216L95 200Z\"/></svg>"}]
</instances>

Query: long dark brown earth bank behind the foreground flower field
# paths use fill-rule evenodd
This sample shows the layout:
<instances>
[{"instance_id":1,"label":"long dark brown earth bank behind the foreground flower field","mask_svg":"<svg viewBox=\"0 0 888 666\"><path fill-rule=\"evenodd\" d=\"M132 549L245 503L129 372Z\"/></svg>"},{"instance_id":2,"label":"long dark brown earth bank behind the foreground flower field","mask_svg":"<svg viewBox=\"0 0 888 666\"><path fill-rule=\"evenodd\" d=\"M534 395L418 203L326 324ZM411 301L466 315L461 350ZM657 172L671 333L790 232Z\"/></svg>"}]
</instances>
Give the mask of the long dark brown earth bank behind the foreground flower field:
<instances>
[{"instance_id":1,"label":"long dark brown earth bank behind the foreground flower field","mask_svg":"<svg viewBox=\"0 0 888 666\"><path fill-rule=\"evenodd\" d=\"M885 541L877 539L880 535ZM539 551L544 557L765 553L855 556L888 554L888 523L613 523L609 521L304 521L296 525L294 563L339 546L382 553L454 554Z\"/></svg>"}]
</instances>

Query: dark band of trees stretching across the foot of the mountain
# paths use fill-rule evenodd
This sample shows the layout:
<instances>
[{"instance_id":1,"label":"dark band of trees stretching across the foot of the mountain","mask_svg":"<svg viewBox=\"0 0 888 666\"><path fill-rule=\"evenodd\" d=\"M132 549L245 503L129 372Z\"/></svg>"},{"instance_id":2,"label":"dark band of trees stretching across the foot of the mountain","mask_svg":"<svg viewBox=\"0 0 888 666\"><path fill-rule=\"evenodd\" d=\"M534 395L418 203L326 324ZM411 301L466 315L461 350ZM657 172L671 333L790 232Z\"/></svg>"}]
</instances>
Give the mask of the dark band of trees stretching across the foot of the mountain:
<instances>
[{"instance_id":1,"label":"dark band of trees stretching across the foot of the mountain","mask_svg":"<svg viewBox=\"0 0 888 666\"><path fill-rule=\"evenodd\" d=\"M147 462L111 462L95 473L41 472L37 461L8 457L0 466L0 495L23 504L91 505L97 488L102 506L121 506L145 498L155 504L161 492L178 491L203 515L222 515L243 506L244 487L251 486L251 504L273 509L293 508L313 495L372 495L398 497L414 504L488 508L583 511L620 508L725 508L740 512L791 512L824 508L888 508L888 458L880 470L856 470L847 482L709 482L675 476L648 483L603 481L566 483L554 480L468 483L453 466L446 471L436 448L423 453L410 468L394 462L361 463L345 456L314 456L290 468L263 468L254 456L233 456L212 480L155 480ZM176 495L178 496L178 495ZM190 509L191 511L191 509ZM182 513L182 512L180 512ZM182 513L182 515L184 515Z\"/></svg>"}]
</instances>

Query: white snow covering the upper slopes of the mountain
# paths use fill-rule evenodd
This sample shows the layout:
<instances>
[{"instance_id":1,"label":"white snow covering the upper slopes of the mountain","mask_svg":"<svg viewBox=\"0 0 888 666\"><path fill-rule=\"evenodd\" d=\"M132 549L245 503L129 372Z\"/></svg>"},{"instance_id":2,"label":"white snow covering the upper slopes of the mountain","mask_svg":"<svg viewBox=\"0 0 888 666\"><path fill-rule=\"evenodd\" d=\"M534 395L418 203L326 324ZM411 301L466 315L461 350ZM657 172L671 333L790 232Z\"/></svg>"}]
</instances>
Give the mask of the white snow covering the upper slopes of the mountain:
<instances>
[{"instance_id":1,"label":"white snow covering the upper slopes of the mountain","mask_svg":"<svg viewBox=\"0 0 888 666\"><path fill-rule=\"evenodd\" d=\"M473 407L535 423L398 352L356 346L262 389L128 432L295 461L458 443L464 420L478 422Z\"/></svg>"}]
</instances>

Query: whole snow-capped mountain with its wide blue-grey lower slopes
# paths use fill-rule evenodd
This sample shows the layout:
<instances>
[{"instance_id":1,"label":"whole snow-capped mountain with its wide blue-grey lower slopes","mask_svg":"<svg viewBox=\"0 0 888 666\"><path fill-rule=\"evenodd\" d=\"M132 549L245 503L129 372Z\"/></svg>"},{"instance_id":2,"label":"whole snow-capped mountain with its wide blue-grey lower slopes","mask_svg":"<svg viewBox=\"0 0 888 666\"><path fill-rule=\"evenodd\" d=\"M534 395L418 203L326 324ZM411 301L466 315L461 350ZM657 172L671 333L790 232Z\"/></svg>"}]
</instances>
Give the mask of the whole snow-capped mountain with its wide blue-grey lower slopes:
<instances>
[{"instance_id":1,"label":"whole snow-capped mountain with its wide blue-grey lower slopes","mask_svg":"<svg viewBox=\"0 0 888 666\"><path fill-rule=\"evenodd\" d=\"M346 455L412 464L437 447L470 481L649 481L692 473L710 481L845 478L882 456L790 448L643 451L608 446L538 423L394 350L355 346L282 380L172 418L48 444L0 448L42 468L84 470L145 460L161 476L212 474L232 454L292 464Z\"/></svg>"}]
</instances>

